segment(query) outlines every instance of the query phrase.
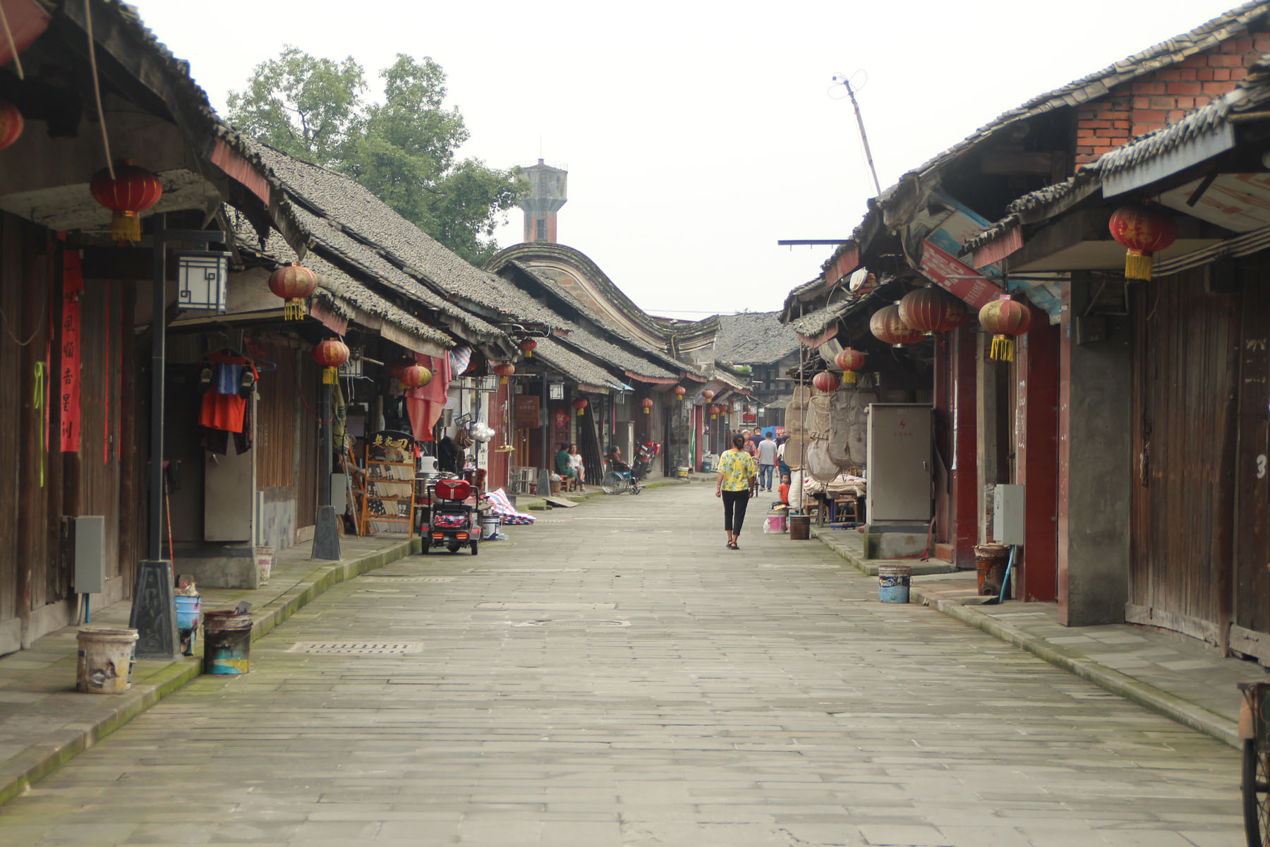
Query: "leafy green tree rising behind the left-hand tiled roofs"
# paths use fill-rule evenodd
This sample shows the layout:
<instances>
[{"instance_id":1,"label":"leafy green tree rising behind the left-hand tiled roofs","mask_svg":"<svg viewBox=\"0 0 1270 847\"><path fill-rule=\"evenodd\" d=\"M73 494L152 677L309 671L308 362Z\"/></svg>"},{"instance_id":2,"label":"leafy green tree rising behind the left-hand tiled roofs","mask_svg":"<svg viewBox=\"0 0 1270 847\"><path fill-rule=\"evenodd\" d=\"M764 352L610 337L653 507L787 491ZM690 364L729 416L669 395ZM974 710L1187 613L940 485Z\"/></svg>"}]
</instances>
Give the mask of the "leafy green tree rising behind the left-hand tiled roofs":
<instances>
[{"instance_id":1,"label":"leafy green tree rising behind the left-hand tiled roofs","mask_svg":"<svg viewBox=\"0 0 1270 847\"><path fill-rule=\"evenodd\" d=\"M398 55L384 102L366 102L362 69L295 47L257 66L230 94L230 122L284 152L353 177L401 217L472 264L498 251L494 230L528 189L518 169L456 159L469 138L444 108L446 74L428 57Z\"/></svg>"}]
</instances>

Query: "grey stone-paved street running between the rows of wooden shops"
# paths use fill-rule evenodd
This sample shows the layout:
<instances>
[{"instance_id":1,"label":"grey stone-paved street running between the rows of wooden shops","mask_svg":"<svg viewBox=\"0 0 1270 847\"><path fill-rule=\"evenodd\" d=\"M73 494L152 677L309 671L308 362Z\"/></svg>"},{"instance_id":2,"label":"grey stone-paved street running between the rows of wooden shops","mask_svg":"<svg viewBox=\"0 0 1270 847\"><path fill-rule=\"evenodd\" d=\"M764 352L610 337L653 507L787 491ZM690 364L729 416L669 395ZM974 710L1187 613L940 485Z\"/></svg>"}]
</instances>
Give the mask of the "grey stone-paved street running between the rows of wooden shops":
<instances>
[{"instance_id":1,"label":"grey stone-paved street running between the rows of wooden shops","mask_svg":"<svg viewBox=\"0 0 1270 847\"><path fill-rule=\"evenodd\" d=\"M343 583L0 806L0 843L1243 843L1231 747L879 603L761 509L728 551L720 512L599 498Z\"/></svg>"}]
</instances>

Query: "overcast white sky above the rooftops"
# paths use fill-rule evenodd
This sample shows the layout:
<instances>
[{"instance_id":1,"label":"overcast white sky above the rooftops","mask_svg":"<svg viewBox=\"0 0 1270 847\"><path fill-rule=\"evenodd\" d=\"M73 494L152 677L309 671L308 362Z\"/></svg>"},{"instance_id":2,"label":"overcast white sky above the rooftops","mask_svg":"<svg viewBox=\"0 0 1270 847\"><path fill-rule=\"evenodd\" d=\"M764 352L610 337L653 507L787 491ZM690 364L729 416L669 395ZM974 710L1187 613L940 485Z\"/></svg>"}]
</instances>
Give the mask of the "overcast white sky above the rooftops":
<instances>
[{"instance_id":1,"label":"overcast white sky above the rooftops","mask_svg":"<svg viewBox=\"0 0 1270 847\"><path fill-rule=\"evenodd\" d=\"M283 44L352 56L372 89L396 53L432 56L471 132L464 155L568 168L560 243L645 310L683 317L779 309L832 248L777 239L860 222L875 190L834 74L864 83L885 189L1033 95L1236 5L132 1L222 113ZM514 210L498 240L521 235Z\"/></svg>"}]
</instances>

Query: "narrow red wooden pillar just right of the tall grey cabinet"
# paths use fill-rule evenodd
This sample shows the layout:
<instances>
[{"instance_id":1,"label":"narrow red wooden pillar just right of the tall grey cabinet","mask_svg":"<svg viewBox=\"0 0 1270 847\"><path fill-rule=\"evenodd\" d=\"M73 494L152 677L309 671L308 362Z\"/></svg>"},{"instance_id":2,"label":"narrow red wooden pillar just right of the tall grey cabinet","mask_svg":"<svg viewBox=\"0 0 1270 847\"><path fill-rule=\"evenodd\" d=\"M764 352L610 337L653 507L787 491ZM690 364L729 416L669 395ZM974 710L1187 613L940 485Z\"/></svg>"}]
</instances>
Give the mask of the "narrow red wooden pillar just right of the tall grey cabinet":
<instances>
[{"instance_id":1,"label":"narrow red wooden pillar just right of the tall grey cabinet","mask_svg":"<svg viewBox=\"0 0 1270 847\"><path fill-rule=\"evenodd\" d=\"M952 465L952 561L959 569L974 568L974 545L979 541L979 498L974 414L975 335L961 326L949 333L952 371L951 433Z\"/></svg>"}]
</instances>

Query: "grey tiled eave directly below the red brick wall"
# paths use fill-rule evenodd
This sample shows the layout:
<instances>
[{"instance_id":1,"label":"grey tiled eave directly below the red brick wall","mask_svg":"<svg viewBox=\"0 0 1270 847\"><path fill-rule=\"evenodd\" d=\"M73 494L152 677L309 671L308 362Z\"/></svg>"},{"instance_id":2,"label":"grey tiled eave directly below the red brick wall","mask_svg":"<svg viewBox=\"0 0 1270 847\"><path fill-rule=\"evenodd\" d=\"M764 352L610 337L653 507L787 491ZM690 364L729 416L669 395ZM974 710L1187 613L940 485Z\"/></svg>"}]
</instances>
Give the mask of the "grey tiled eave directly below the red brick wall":
<instances>
[{"instance_id":1,"label":"grey tiled eave directly below the red brick wall","mask_svg":"<svg viewBox=\"0 0 1270 847\"><path fill-rule=\"evenodd\" d=\"M1114 174L1147 164L1179 147L1224 130L1232 116L1260 110L1270 102L1270 56L1262 56L1248 75L1223 97L1191 112L1181 121L1111 150L1069 179L1024 194L1007 207L1007 215L966 240L961 253L988 244L1021 223L1041 221L1097 192Z\"/></svg>"}]
</instances>

